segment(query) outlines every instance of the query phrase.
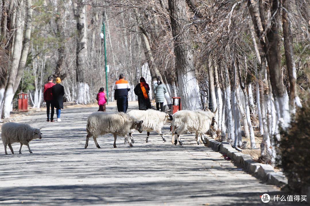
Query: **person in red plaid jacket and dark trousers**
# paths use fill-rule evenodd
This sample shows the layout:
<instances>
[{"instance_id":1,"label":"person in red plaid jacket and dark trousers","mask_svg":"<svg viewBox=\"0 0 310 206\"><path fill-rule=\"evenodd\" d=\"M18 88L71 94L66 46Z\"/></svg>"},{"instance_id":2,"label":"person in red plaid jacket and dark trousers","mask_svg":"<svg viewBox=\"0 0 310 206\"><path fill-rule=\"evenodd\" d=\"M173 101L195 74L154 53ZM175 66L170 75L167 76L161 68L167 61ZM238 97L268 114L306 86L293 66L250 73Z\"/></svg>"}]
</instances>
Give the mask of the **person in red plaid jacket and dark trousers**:
<instances>
[{"instance_id":1,"label":"person in red plaid jacket and dark trousers","mask_svg":"<svg viewBox=\"0 0 310 206\"><path fill-rule=\"evenodd\" d=\"M52 95L52 86L55 84L53 83L53 77L47 78L48 83L44 84L44 92L43 98L46 102L46 113L47 113L47 122L50 121L50 106L51 106L51 122L54 122L54 103L53 103L53 95Z\"/></svg>"}]
</instances>

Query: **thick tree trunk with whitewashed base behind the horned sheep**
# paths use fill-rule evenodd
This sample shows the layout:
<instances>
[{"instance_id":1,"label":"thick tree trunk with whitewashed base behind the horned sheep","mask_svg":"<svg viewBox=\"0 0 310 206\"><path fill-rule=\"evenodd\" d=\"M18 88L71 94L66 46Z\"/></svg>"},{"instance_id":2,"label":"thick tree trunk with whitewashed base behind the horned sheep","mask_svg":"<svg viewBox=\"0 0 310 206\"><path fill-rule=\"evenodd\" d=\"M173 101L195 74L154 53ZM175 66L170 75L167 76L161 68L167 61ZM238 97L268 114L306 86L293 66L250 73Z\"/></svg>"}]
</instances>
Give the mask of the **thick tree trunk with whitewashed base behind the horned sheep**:
<instances>
[{"instance_id":1,"label":"thick tree trunk with whitewashed base behind the horned sheep","mask_svg":"<svg viewBox=\"0 0 310 206\"><path fill-rule=\"evenodd\" d=\"M169 0L168 5L175 45L175 66L178 75L182 110L197 110L202 105L199 101L200 96L195 76L194 56L189 38L190 31L186 26L188 23L186 4L182 0Z\"/></svg>"}]
</instances>

